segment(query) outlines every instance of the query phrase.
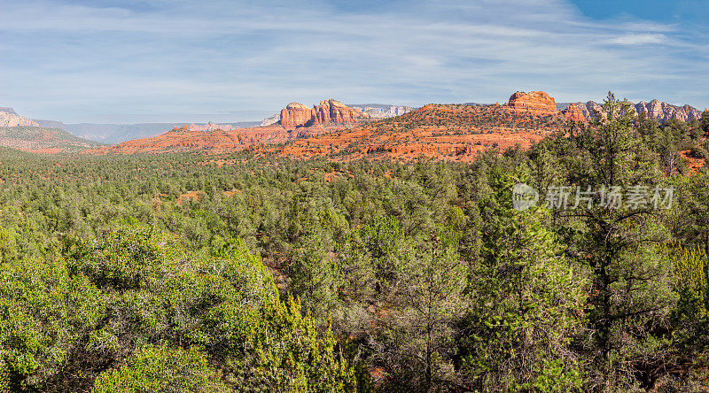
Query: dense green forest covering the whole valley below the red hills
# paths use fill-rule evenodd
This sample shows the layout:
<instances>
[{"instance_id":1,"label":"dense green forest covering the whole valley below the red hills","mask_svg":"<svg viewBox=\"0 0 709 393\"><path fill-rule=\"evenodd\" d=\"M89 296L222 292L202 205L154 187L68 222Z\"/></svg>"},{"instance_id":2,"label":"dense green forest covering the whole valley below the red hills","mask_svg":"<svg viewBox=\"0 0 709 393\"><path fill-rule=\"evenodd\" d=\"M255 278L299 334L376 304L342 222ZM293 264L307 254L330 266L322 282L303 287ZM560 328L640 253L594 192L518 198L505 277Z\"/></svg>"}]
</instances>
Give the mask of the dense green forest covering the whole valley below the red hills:
<instances>
[{"instance_id":1,"label":"dense green forest covering the whole valley below the red hills","mask_svg":"<svg viewBox=\"0 0 709 393\"><path fill-rule=\"evenodd\" d=\"M709 112L605 106L471 164L2 150L0 391L709 389Z\"/></svg>"}]
</instances>

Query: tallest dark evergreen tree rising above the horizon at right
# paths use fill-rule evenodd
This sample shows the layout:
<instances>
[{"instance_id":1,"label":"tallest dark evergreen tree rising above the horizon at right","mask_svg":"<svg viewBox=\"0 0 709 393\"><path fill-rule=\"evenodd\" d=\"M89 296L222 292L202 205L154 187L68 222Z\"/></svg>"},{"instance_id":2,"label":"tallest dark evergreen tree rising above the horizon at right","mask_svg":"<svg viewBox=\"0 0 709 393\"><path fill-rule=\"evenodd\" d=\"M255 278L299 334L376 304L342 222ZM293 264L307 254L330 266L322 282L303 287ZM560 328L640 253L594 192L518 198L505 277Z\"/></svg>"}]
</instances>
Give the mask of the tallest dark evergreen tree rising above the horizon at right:
<instances>
[{"instance_id":1,"label":"tallest dark evergreen tree rising above the horizon at right","mask_svg":"<svg viewBox=\"0 0 709 393\"><path fill-rule=\"evenodd\" d=\"M668 285L672 267L656 247L668 233L649 198L635 208L608 202L612 188L649 192L661 176L641 143L630 104L609 93L603 108L607 117L596 116L578 143L586 181L579 185L600 192L591 205L559 212L566 220L567 253L588 267L592 279L587 389L650 387L667 361L666 328L675 301Z\"/></svg>"}]
</instances>

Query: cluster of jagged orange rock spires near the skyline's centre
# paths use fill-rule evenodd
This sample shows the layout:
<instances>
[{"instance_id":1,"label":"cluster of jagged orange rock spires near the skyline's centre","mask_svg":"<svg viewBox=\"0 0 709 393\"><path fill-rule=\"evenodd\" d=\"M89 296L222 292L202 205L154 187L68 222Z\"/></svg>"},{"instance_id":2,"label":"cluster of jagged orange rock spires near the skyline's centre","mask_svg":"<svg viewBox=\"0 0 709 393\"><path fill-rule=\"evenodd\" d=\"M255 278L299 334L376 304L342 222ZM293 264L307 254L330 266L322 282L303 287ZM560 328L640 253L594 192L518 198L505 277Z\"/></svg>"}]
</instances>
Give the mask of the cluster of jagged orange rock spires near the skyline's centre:
<instances>
[{"instance_id":1,"label":"cluster of jagged orange rock spires near the skyline's centre","mask_svg":"<svg viewBox=\"0 0 709 393\"><path fill-rule=\"evenodd\" d=\"M359 109L350 108L337 100L321 101L313 108L300 103L288 104L281 110L280 124L286 129L295 127L310 127L316 124L356 123L368 119L369 115Z\"/></svg>"}]
</instances>

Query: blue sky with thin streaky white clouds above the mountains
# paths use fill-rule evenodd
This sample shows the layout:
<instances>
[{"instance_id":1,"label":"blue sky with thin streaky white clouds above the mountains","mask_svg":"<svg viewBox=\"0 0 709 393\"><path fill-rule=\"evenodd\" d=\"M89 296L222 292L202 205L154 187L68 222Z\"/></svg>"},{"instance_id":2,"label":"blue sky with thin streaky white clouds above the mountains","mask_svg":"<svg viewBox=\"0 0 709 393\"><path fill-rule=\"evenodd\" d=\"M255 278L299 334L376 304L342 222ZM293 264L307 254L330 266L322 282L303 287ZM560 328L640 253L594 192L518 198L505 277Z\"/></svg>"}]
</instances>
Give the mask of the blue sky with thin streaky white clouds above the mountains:
<instances>
[{"instance_id":1,"label":"blue sky with thin streaky white clouds above the mountains","mask_svg":"<svg viewBox=\"0 0 709 393\"><path fill-rule=\"evenodd\" d=\"M65 122L240 121L292 101L709 107L709 1L0 0L0 106Z\"/></svg>"}]
</instances>

